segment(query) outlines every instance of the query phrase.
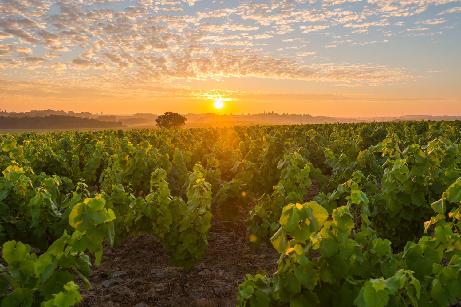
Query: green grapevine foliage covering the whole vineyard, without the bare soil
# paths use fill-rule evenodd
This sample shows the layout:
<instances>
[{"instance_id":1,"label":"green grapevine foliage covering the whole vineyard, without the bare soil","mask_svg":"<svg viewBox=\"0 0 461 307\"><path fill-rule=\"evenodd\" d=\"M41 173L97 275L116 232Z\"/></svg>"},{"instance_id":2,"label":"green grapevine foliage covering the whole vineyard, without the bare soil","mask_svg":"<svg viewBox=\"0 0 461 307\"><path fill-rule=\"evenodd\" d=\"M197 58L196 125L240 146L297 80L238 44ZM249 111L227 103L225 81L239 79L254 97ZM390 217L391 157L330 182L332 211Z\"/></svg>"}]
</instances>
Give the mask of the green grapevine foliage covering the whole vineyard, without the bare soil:
<instances>
[{"instance_id":1,"label":"green grapevine foliage covering the whole vineyard, without the bare soil","mask_svg":"<svg viewBox=\"0 0 461 307\"><path fill-rule=\"evenodd\" d=\"M89 286L87 255L99 264L105 237L118 244L153 235L170 263L187 270L204 254L212 214L231 226L258 195L248 230L280 252L279 270L248 275L240 306L447 306L461 295L460 128L1 135L2 304L74 306L81 297L71 272ZM313 182L319 195L305 203ZM94 185L98 192L89 192ZM28 244L47 252L37 258Z\"/></svg>"}]
</instances>

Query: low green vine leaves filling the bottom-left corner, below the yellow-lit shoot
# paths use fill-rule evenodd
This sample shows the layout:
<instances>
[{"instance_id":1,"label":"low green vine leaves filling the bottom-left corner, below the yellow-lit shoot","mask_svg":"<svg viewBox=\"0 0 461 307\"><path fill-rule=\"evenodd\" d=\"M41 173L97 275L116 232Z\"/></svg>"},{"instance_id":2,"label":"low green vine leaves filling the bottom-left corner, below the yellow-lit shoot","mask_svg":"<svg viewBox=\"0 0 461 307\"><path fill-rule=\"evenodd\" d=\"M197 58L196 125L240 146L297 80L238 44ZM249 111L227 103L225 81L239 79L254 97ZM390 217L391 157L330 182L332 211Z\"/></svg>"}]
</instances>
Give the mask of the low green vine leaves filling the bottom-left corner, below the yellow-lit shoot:
<instances>
[{"instance_id":1,"label":"low green vine leaves filling the bottom-left corner, below the yellow-lit shoot","mask_svg":"<svg viewBox=\"0 0 461 307\"><path fill-rule=\"evenodd\" d=\"M91 263L87 255L72 249L72 241L64 232L40 257L30 254L30 245L14 240L4 243L8 269L2 268L6 272L0 277L1 307L70 307L80 302L80 289L68 271L75 271L87 289ZM6 293L10 286L13 290Z\"/></svg>"}]
</instances>

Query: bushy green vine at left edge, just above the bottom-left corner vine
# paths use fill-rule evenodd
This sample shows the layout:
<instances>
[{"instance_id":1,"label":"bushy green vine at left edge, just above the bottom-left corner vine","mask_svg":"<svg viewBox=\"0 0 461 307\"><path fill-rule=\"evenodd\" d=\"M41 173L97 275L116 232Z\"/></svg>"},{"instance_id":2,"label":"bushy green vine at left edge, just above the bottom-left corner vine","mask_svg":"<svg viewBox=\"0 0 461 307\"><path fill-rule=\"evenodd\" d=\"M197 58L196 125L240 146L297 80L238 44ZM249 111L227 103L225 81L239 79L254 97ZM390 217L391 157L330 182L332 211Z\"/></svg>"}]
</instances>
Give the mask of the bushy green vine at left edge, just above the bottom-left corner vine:
<instances>
[{"instance_id":1,"label":"bushy green vine at left edge, just above the bottom-left corner vine","mask_svg":"<svg viewBox=\"0 0 461 307\"><path fill-rule=\"evenodd\" d=\"M68 178L36 175L12 163L0 177L0 243L16 238L46 249L65 230L59 204L74 185Z\"/></svg>"}]
</instances>

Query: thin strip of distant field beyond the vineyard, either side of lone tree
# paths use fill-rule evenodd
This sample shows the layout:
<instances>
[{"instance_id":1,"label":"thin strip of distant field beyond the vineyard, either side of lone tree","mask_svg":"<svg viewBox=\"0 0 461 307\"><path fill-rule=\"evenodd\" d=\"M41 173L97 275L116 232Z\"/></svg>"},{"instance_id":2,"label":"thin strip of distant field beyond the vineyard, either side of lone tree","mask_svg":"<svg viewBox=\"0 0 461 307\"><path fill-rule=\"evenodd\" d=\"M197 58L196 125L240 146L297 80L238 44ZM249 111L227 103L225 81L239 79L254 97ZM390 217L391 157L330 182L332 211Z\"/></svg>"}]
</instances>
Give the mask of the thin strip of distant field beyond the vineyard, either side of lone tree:
<instances>
[{"instance_id":1,"label":"thin strip of distant field beyond the vineyard, either side of lone tree","mask_svg":"<svg viewBox=\"0 0 461 307\"><path fill-rule=\"evenodd\" d=\"M281 123L275 122L251 122L251 121L222 121L222 122L190 122L186 123L184 128L198 128L198 127L234 127L234 126L251 126L251 125L277 125ZM48 132L61 132L61 131L101 131L108 129L157 129L155 125L132 125L130 127L114 127L114 128L63 128L63 129L0 129L0 133L24 133L35 131L36 133L48 133Z\"/></svg>"}]
</instances>

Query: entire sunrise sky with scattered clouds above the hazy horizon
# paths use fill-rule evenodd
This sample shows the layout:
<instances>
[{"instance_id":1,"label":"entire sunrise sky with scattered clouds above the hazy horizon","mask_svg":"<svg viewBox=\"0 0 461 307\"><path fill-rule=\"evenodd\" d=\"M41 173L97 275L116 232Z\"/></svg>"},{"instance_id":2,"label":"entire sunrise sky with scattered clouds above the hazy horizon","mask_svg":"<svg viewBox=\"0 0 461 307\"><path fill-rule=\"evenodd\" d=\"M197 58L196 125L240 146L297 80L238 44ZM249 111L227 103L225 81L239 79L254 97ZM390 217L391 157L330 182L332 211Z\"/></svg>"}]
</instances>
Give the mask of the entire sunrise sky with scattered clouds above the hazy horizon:
<instances>
[{"instance_id":1,"label":"entire sunrise sky with scattered clouds above the hazy horizon","mask_svg":"<svg viewBox=\"0 0 461 307\"><path fill-rule=\"evenodd\" d=\"M0 109L461 115L460 17L460 0L0 0Z\"/></svg>"}]
</instances>

